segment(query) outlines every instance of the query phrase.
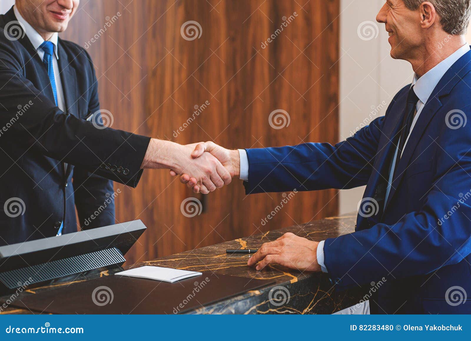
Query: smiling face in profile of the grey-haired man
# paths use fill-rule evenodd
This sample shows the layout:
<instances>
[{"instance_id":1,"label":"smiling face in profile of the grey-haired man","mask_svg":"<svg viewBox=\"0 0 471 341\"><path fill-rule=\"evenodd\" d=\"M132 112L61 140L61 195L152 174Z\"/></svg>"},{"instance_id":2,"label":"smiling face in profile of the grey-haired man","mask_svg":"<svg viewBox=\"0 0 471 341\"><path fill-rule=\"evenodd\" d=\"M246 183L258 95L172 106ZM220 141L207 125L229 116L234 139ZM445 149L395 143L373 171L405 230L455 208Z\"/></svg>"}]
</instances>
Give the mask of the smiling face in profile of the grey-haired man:
<instances>
[{"instance_id":1,"label":"smiling face in profile of the grey-haired man","mask_svg":"<svg viewBox=\"0 0 471 341\"><path fill-rule=\"evenodd\" d=\"M411 11L402 0L387 0L376 20L386 25L391 57L407 60L422 45L420 11Z\"/></svg>"}]
</instances>

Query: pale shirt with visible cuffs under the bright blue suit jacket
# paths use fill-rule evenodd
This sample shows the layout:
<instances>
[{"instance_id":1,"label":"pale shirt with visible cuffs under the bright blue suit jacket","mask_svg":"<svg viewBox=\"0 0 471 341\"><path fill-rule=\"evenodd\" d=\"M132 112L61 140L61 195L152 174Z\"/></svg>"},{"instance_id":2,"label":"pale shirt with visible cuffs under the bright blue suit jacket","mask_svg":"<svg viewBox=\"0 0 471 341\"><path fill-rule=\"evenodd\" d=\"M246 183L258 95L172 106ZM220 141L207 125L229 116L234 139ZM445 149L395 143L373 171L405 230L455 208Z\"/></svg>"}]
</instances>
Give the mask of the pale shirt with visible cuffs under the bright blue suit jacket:
<instances>
[{"instance_id":1,"label":"pale shirt with visible cuffs under the bright blue suit jacket","mask_svg":"<svg viewBox=\"0 0 471 341\"><path fill-rule=\"evenodd\" d=\"M412 81L412 86L414 86L414 92L419 97L419 101L417 102L416 109L417 114L415 114L414 121L412 122L411 130L409 135L406 138L406 143L404 144L404 148L402 152L404 153L404 149L406 148L407 141L409 140L410 134L414 129L415 123L417 122L420 113L422 112L423 107L429 100L430 95L432 94L433 90L448 71L448 69L455 64L455 62L463 57L467 52L470 51L470 46L465 44L460 49L456 50L451 56L447 57L447 59L440 62L436 65L433 69L429 72L425 73L422 77L418 78L416 74L414 74L414 79ZM386 197L384 203L387 203L388 196L391 189L392 177L394 166L396 163L396 157L398 155L398 147L396 148L396 152L394 157L392 158L391 167L390 167L390 176L388 179L388 187L386 189ZM401 154L402 155L402 154ZM240 176L239 178L245 181L249 179L249 160L247 158L247 152L244 149L239 149L239 156L240 156ZM327 268L325 268L325 258L324 258L324 243L325 240L321 241L319 245L317 245L317 263L322 268L323 272L328 272Z\"/></svg>"}]
</instances>

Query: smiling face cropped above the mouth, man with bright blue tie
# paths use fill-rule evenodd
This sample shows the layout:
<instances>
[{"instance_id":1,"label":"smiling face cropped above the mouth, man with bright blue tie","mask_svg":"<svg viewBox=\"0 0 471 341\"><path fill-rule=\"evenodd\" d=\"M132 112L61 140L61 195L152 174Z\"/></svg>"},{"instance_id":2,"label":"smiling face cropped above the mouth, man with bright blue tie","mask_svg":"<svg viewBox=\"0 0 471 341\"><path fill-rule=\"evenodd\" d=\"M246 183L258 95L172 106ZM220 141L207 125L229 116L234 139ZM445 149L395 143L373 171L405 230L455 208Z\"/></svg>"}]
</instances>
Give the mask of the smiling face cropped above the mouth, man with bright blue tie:
<instances>
[{"instance_id":1,"label":"smiling face cropped above the mouth, man with bright blue tie","mask_svg":"<svg viewBox=\"0 0 471 341\"><path fill-rule=\"evenodd\" d=\"M64 32L80 0L16 0L24 19L39 33Z\"/></svg>"}]
</instances>

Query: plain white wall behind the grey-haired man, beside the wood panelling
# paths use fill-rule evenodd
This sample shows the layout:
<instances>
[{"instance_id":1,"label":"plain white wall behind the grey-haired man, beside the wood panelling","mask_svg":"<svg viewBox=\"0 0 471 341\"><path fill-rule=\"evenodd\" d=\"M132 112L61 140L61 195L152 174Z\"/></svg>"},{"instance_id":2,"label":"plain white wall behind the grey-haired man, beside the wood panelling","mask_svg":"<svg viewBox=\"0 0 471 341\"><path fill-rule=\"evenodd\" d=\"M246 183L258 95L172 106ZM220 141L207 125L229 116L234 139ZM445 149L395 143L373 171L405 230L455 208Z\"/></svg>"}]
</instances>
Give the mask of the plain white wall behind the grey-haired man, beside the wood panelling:
<instances>
[{"instance_id":1,"label":"plain white wall behind the grey-haired man, beside the wood panelling","mask_svg":"<svg viewBox=\"0 0 471 341\"><path fill-rule=\"evenodd\" d=\"M383 0L341 0L340 140L384 115L392 97L414 75L410 64L390 57L384 24L375 20L383 4ZM357 211L364 191L365 187L341 190L340 213Z\"/></svg>"}]
</instances>

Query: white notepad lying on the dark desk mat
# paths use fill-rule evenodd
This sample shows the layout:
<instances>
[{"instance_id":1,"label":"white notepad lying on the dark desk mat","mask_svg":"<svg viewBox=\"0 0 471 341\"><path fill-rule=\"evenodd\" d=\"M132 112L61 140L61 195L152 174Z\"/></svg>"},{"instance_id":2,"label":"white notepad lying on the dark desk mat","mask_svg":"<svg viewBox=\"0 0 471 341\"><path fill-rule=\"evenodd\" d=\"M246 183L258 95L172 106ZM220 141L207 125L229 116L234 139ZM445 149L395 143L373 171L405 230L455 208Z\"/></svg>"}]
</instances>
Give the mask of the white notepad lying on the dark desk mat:
<instances>
[{"instance_id":1,"label":"white notepad lying on the dark desk mat","mask_svg":"<svg viewBox=\"0 0 471 341\"><path fill-rule=\"evenodd\" d=\"M187 271L172 268L144 266L115 273L118 276L154 279L156 281L173 283L188 277L202 275L201 272Z\"/></svg>"}]
</instances>

